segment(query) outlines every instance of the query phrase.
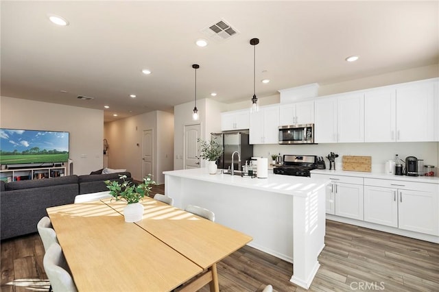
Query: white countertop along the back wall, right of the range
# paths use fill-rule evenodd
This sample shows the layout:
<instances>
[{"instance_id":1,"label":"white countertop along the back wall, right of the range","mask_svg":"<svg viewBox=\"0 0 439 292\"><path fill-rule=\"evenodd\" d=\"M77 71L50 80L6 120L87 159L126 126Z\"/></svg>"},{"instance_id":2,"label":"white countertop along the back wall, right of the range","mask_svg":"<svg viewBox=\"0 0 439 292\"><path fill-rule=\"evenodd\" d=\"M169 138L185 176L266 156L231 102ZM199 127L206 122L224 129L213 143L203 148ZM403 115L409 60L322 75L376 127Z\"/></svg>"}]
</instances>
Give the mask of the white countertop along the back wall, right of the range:
<instances>
[{"instance_id":1,"label":"white countertop along the back wall, right of the range","mask_svg":"<svg viewBox=\"0 0 439 292\"><path fill-rule=\"evenodd\" d=\"M313 173L320 173L327 175L333 174L333 175L356 176L359 178L378 178L381 180L400 180L404 182L427 182L429 184L439 184L439 177L437 176L407 176L407 175L394 175L394 174L385 174L385 173L371 173L364 171L313 169L311 171L311 178Z\"/></svg>"}]
</instances>

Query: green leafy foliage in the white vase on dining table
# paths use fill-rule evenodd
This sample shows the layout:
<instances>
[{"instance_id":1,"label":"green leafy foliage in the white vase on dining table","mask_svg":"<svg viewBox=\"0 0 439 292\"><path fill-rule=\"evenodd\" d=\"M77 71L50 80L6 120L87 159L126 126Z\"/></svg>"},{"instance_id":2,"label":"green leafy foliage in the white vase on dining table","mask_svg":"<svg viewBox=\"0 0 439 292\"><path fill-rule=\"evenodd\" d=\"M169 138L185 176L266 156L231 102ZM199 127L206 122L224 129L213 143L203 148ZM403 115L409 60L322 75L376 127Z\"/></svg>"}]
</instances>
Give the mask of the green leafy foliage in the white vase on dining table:
<instances>
[{"instance_id":1,"label":"green leafy foliage in the white vase on dining table","mask_svg":"<svg viewBox=\"0 0 439 292\"><path fill-rule=\"evenodd\" d=\"M117 180L106 180L105 184L110 190L112 199L115 199L116 201L122 200L127 202L127 204L134 204L139 203L145 195L148 197L150 196L152 184L156 184L151 177L152 175L148 174L146 178L143 178L141 184L134 184L134 182L126 180L126 175L119 175L119 179L122 182Z\"/></svg>"}]
</instances>

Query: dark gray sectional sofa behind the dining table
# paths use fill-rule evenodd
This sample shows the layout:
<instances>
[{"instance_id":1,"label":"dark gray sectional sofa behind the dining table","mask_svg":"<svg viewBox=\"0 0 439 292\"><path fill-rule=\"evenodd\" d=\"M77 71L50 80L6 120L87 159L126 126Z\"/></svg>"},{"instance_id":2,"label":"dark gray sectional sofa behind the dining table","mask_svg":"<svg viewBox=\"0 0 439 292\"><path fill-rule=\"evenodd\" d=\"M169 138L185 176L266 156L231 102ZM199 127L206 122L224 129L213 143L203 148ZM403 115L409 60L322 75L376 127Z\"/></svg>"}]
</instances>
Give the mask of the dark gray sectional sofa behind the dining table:
<instances>
[{"instance_id":1,"label":"dark gray sectional sofa behind the dining table","mask_svg":"<svg viewBox=\"0 0 439 292\"><path fill-rule=\"evenodd\" d=\"M46 208L72 204L76 195L108 191L105 180L119 180L110 173L68 175L44 180L0 181L0 239L37 232L36 224L47 216Z\"/></svg>"}]
</instances>

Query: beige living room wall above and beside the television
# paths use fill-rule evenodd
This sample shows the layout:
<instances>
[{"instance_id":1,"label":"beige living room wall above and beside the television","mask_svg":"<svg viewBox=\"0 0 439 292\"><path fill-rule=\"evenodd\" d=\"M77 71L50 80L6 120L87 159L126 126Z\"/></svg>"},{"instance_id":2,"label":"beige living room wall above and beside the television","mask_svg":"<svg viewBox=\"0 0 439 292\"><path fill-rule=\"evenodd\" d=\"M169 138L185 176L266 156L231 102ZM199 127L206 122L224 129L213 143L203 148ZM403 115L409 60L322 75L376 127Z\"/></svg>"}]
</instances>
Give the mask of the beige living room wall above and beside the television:
<instances>
[{"instance_id":1,"label":"beige living room wall above and beside the television","mask_svg":"<svg viewBox=\"0 0 439 292\"><path fill-rule=\"evenodd\" d=\"M0 97L0 127L69 132L73 173L102 169L104 111Z\"/></svg>"}]
</instances>

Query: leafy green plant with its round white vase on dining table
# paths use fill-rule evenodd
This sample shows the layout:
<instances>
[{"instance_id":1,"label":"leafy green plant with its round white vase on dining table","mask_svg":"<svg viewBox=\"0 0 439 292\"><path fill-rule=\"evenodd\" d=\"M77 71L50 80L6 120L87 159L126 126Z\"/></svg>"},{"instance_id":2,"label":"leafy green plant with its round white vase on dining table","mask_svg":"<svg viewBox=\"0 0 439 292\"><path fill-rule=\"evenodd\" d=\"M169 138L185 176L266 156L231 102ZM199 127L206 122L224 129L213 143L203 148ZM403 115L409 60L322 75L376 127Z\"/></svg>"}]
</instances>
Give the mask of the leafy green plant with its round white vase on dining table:
<instances>
[{"instance_id":1,"label":"leafy green plant with its round white vase on dining table","mask_svg":"<svg viewBox=\"0 0 439 292\"><path fill-rule=\"evenodd\" d=\"M127 206L123 209L123 216L126 222L137 222L142 219L143 205L139 202L145 195L150 196L151 185L156 184L151 177L152 175L148 174L146 178L143 178L141 184L134 184L132 181L126 180L126 175L119 175L119 179L122 182L117 180L105 181L112 199L127 203Z\"/></svg>"}]
</instances>

